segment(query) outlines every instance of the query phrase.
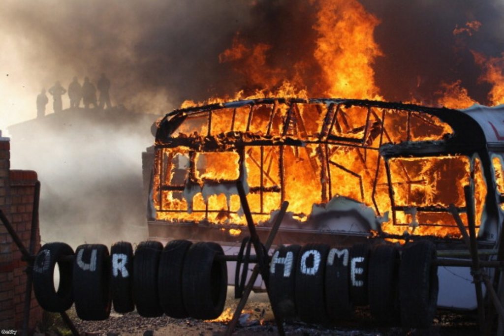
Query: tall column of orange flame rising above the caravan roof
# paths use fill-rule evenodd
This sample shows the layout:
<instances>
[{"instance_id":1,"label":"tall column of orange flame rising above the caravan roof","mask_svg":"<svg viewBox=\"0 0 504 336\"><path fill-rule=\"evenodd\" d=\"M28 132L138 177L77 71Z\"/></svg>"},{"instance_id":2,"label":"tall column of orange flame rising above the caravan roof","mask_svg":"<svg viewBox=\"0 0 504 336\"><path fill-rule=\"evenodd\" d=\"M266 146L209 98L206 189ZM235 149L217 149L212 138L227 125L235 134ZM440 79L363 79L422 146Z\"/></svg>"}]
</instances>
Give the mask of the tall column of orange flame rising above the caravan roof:
<instances>
[{"instance_id":1,"label":"tall column of orange flame rising above the caravan roof","mask_svg":"<svg viewBox=\"0 0 504 336\"><path fill-rule=\"evenodd\" d=\"M357 1L320 0L318 6L313 56L322 68L326 96L381 99L371 67L382 55L373 38L380 21Z\"/></svg>"}]
</instances>

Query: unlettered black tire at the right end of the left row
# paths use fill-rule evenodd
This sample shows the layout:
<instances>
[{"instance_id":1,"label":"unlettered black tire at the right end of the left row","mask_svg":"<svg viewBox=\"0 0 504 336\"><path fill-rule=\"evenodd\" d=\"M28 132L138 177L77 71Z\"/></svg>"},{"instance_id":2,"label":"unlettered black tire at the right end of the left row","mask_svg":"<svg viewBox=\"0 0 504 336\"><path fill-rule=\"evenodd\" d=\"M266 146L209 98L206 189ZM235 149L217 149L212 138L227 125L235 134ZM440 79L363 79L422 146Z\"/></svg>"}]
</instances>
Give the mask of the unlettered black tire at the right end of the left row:
<instances>
[{"instance_id":1,"label":"unlettered black tire at the right end of the left row","mask_svg":"<svg viewBox=\"0 0 504 336\"><path fill-rule=\"evenodd\" d=\"M187 313L209 320L220 316L227 294L226 261L222 247L213 242L193 244L187 251L182 271L182 296Z\"/></svg>"}]
</instances>

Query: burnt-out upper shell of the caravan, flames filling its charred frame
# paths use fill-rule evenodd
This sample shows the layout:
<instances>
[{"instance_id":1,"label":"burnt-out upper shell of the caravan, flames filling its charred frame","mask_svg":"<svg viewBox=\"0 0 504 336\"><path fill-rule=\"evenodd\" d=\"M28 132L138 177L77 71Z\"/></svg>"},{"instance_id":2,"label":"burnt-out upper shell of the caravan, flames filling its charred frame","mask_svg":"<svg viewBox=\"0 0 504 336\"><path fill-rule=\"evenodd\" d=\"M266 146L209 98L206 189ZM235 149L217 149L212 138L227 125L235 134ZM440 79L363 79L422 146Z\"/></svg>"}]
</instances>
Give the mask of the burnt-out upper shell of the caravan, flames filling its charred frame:
<instances>
[{"instance_id":1,"label":"burnt-out upper shell of the caravan, flames filling its charred frame","mask_svg":"<svg viewBox=\"0 0 504 336\"><path fill-rule=\"evenodd\" d=\"M478 127L459 110L367 100L271 98L175 110L158 123L155 220L243 225L239 179L259 225L288 200L293 226L327 229L317 209L344 197L374 212L363 231L458 238L448 206L466 219L464 185L475 188L478 229L488 217ZM501 176L490 179L498 184Z\"/></svg>"}]
</instances>

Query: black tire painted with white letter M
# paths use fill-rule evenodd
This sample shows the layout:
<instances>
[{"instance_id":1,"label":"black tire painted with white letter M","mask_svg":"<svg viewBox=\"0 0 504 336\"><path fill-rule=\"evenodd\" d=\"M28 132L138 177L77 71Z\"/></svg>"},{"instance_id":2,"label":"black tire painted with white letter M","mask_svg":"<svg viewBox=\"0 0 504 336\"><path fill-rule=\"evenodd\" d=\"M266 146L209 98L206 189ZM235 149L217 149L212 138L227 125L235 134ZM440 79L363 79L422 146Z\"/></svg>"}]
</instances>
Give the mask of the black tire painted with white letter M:
<instances>
[{"instance_id":1,"label":"black tire painted with white letter M","mask_svg":"<svg viewBox=\"0 0 504 336\"><path fill-rule=\"evenodd\" d=\"M332 248L326 264L326 311L331 322L351 318L350 249Z\"/></svg>"}]
</instances>

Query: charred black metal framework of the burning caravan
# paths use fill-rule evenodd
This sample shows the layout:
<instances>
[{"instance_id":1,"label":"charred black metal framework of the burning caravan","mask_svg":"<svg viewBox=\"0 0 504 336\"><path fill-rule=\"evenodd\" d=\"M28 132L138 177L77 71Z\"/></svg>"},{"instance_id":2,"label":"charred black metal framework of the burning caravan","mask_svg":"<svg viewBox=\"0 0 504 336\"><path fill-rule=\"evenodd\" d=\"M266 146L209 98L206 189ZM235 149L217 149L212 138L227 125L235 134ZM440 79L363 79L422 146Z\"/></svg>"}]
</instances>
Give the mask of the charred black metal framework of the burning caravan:
<instances>
[{"instance_id":1,"label":"charred black metal framework of the burning caravan","mask_svg":"<svg viewBox=\"0 0 504 336\"><path fill-rule=\"evenodd\" d=\"M306 116L301 114L301 109L306 106L317 111L319 118L317 128L313 127L313 120L310 127L306 125ZM283 110L282 110L283 108ZM260 111L260 112L258 112ZM267 112L265 112L267 111ZM354 126L352 124L351 113L360 114L361 119L365 119L363 124ZM227 113L230 123L226 124L226 129L222 126L214 127L217 113ZM256 114L257 113L257 114ZM231 115L229 117L229 114ZM243 117L243 114L245 117ZM243 122L238 126L238 115ZM398 118L401 115L401 126L399 137L392 136L391 130L387 128L387 118ZM205 120L199 126L199 130L191 133L177 133L177 129L184 123L199 118ZM203 118L203 119L202 119ZM261 119L258 123L261 127L254 126L255 119ZM440 119L439 122L438 119ZM246 121L245 121L246 120ZM415 127L421 124L424 130L422 134L415 133ZM447 128L447 125L448 128ZM397 127L397 125L396 125ZM309 128L309 129L308 129ZM214 131L216 130L216 131ZM435 131L433 131L435 130ZM448 130L448 132L447 132ZM274 160L273 146L279 147L278 167L279 178L272 177L271 167ZM322 163L320 167L320 181L322 184L321 201L327 202L334 195L333 183L331 180L331 167L345 172L355 177L358 182L361 200L364 200L363 174L369 172L354 171L331 159L332 155L341 148L352 148L357 152L357 159L364 165L367 162L369 151L379 153L376 165L373 167L374 177L372 177L371 199L376 214L382 215L381 209L376 201L376 190L379 187L378 175L380 172L381 160L384 160L384 167L387 175L387 188L390 198L390 210L392 210L392 220L394 225L405 226L408 224L399 223L397 212L405 212L407 206L396 205L394 200L393 181L391 177L390 159L411 158L411 157L441 157L464 155L471 158L476 154L482 162L483 175L486 181L494 181L491 170L490 157L487 150L487 141L484 131L478 123L467 113L459 110L447 108L432 108L412 104L389 103L382 101L349 100L349 99L285 99L268 98L243 100L229 103L218 103L200 107L179 109L168 113L158 122L155 143L155 155L157 166L155 175L159 176L159 188L153 190L154 197L158 197L157 212L181 213L186 210L163 208L163 192L183 192L187 183L197 184L196 154L207 152L236 152L239 156L239 177L243 179L245 154L250 158L250 162L260 170L259 185L251 185L250 193L259 194L260 209L253 212L254 215L269 215L264 209L264 197L267 193L280 194L278 207L286 200L285 195L285 146L292 146L296 156L298 152L306 146L317 146L316 156ZM251 155L251 148L259 147L260 158ZM498 147L498 146L497 146ZM163 149L184 148L189 157L188 172L183 184L166 183L163 174L170 171L170 167L163 166ZM317 162L314 156L308 155L310 164L316 168ZM267 164L266 164L267 163ZM168 163L169 164L169 163ZM316 169L314 169L316 170ZM405 184L409 192L411 187L419 181L410 178L408 172L403 167L405 174ZM371 169L369 169L371 171ZM474 171L471 171L471 183L474 180ZM269 186L265 181L268 180ZM200 181L201 182L201 181ZM235 183L226 180L208 180L205 183ZM493 182L495 183L495 182ZM151 186L152 187L152 186ZM490 187L489 187L490 188ZM497 201L491 192L487 193L485 199L487 210L490 213L497 212ZM278 208L277 207L277 208ZM493 209L493 210L492 210ZM465 213L465 207L459 207L460 213ZM416 207L418 212L429 213L450 213L448 207L438 205ZM193 212L204 213L205 220L209 213L219 213L221 210L209 209L208 203L204 210L193 210ZM236 213L228 209L228 213ZM420 225L434 225L420 223Z\"/></svg>"}]
</instances>

